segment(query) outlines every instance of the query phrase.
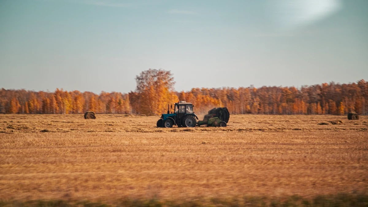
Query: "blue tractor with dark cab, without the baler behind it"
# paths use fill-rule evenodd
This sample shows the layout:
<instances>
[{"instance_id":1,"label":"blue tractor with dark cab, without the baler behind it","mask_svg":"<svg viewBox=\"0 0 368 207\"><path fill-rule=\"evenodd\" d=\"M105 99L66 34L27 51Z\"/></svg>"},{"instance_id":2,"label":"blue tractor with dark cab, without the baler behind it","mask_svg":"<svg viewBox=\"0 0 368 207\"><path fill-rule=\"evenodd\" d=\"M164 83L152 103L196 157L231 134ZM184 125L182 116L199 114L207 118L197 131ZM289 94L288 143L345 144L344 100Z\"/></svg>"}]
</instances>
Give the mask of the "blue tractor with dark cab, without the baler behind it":
<instances>
[{"instance_id":1,"label":"blue tractor with dark cab, without the baler behind it","mask_svg":"<svg viewBox=\"0 0 368 207\"><path fill-rule=\"evenodd\" d=\"M173 108L173 105L171 105ZM192 103L179 101L174 104L174 112L170 113L169 104L167 104L167 113L162 114L157 121L157 127L171 128L173 125L178 127L195 127L197 125L198 116L193 112Z\"/></svg>"}]
</instances>

